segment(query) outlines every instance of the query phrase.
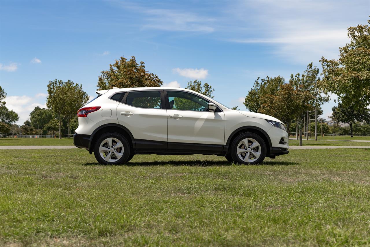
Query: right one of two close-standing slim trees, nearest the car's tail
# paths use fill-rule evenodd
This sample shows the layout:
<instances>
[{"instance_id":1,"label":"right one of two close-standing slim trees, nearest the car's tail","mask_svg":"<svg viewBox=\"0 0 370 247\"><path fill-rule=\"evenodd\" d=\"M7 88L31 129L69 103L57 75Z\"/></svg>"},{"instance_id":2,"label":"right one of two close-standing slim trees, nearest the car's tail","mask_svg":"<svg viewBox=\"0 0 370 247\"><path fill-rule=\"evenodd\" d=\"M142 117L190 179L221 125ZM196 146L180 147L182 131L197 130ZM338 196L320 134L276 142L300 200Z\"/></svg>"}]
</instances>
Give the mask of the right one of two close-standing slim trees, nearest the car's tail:
<instances>
[{"instance_id":1,"label":"right one of two close-standing slim trees, nearest the car's tail","mask_svg":"<svg viewBox=\"0 0 370 247\"><path fill-rule=\"evenodd\" d=\"M68 103L63 109L63 115L67 117L68 120L68 137L70 135L70 119L76 115L78 109L88 102L89 96L82 90L82 85L78 83L74 84L73 81L68 80L65 83L67 90Z\"/></svg>"}]
</instances>

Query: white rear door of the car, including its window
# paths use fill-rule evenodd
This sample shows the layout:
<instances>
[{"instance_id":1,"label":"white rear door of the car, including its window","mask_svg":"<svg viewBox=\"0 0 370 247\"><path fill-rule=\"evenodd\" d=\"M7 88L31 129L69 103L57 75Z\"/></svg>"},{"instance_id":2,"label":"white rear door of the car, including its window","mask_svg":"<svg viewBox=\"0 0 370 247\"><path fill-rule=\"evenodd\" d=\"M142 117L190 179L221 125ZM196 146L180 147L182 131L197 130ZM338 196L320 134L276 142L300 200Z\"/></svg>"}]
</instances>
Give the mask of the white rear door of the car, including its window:
<instances>
[{"instance_id":1,"label":"white rear door of the car, including its window","mask_svg":"<svg viewBox=\"0 0 370 247\"><path fill-rule=\"evenodd\" d=\"M129 91L117 106L118 123L131 131L138 149L167 148L163 99L163 90Z\"/></svg>"}]
</instances>

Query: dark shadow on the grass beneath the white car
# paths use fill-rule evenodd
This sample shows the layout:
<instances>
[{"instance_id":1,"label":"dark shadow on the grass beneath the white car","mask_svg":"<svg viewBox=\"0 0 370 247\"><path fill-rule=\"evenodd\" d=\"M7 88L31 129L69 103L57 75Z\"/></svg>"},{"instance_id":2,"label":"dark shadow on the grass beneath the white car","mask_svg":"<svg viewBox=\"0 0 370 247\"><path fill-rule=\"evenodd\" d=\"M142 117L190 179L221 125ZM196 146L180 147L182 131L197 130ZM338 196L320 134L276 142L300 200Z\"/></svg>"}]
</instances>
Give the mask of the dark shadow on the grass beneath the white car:
<instances>
[{"instance_id":1,"label":"dark shadow on the grass beneath the white car","mask_svg":"<svg viewBox=\"0 0 370 247\"><path fill-rule=\"evenodd\" d=\"M102 165L98 162L88 162L83 165L89 166L89 165ZM232 165L238 165L227 161L149 161L149 162L127 162L125 164L122 164L122 166L128 166L128 167L134 167L134 166L157 166L157 165L169 165L169 166L189 166L189 167L224 167L224 166L232 166ZM298 165L297 162L289 162L289 161L268 161L268 162L262 162L260 165L268 165L268 166L274 166L274 165ZM105 166L105 165L102 165Z\"/></svg>"}]
</instances>

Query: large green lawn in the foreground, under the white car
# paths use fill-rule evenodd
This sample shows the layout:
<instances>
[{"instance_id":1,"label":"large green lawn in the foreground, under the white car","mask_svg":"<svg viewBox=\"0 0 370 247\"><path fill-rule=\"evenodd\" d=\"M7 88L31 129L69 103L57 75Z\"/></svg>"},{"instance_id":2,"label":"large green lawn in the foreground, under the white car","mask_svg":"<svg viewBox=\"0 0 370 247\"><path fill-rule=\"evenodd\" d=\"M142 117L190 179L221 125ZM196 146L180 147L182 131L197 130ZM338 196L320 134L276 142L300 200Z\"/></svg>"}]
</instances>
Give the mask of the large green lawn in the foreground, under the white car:
<instances>
[{"instance_id":1,"label":"large green lawn in the foreground, under the white car","mask_svg":"<svg viewBox=\"0 0 370 247\"><path fill-rule=\"evenodd\" d=\"M370 245L370 150L292 150L263 165L86 150L0 150L2 245Z\"/></svg>"}]
</instances>

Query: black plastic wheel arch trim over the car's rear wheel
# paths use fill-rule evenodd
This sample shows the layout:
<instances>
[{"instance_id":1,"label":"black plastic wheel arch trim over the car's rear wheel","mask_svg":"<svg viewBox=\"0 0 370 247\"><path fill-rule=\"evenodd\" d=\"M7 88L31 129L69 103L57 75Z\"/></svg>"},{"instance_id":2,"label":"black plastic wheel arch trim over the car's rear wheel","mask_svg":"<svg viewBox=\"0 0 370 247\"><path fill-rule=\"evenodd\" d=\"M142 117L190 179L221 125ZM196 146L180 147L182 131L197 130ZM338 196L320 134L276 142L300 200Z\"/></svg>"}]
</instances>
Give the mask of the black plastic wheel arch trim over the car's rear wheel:
<instances>
[{"instance_id":1,"label":"black plastic wheel arch trim over the car's rear wheel","mask_svg":"<svg viewBox=\"0 0 370 247\"><path fill-rule=\"evenodd\" d=\"M131 131L129 131L125 126L119 125L117 123L107 123L104 125L99 126L97 129L92 132L91 136L92 138L90 139L88 150L90 154L94 151L94 144L95 141L98 139L98 137L101 134L107 133L107 132L117 132L120 133L121 135L125 136L125 138L128 140L131 148L136 148L135 144L135 139L134 136L132 135Z\"/></svg>"}]
</instances>

